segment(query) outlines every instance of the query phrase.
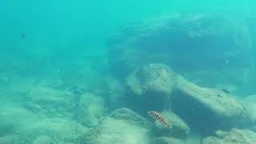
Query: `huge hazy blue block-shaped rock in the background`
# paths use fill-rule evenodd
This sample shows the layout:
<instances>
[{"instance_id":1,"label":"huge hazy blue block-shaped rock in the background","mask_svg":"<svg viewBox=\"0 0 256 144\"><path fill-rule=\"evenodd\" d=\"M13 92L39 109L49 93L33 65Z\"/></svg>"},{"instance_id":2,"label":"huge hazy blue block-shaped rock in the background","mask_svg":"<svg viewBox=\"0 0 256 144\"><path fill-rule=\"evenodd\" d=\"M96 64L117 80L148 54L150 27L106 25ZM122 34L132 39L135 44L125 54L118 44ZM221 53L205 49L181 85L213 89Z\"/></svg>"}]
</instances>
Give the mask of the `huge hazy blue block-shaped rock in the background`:
<instances>
[{"instance_id":1,"label":"huge hazy blue block-shaped rock in the background","mask_svg":"<svg viewBox=\"0 0 256 144\"><path fill-rule=\"evenodd\" d=\"M250 35L243 19L172 14L126 27L110 38L110 70L121 78L149 62L166 63L178 71L227 70L248 60L241 54L250 53Z\"/></svg>"}]
</instances>

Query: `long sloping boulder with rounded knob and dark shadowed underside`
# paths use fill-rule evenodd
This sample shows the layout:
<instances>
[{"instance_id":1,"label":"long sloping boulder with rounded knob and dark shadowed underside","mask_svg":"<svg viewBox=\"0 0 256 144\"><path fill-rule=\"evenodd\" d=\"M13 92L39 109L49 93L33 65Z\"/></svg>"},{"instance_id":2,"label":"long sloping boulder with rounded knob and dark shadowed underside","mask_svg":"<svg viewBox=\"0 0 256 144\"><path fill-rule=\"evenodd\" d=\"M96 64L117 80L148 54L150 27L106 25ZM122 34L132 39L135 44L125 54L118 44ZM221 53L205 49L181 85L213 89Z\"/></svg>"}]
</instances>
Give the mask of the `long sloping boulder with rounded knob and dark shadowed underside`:
<instances>
[{"instance_id":1,"label":"long sloping boulder with rounded knob and dark shadowed underside","mask_svg":"<svg viewBox=\"0 0 256 144\"><path fill-rule=\"evenodd\" d=\"M140 102L147 110L160 110L160 106L168 100L168 97L162 95L170 96L169 108L174 114L202 134L212 134L215 130L230 130L234 127L245 128L254 122L250 110L231 94L224 90L197 86L163 64L142 66L126 80L128 87L136 96L132 98L133 102L142 98ZM151 83L154 85L150 85ZM140 94L143 97L138 97ZM169 115L172 116L166 114L166 117ZM184 125L182 129L179 124L176 130L159 128L158 133L164 136L175 134L177 138L184 138L190 131L189 126Z\"/></svg>"}]
</instances>

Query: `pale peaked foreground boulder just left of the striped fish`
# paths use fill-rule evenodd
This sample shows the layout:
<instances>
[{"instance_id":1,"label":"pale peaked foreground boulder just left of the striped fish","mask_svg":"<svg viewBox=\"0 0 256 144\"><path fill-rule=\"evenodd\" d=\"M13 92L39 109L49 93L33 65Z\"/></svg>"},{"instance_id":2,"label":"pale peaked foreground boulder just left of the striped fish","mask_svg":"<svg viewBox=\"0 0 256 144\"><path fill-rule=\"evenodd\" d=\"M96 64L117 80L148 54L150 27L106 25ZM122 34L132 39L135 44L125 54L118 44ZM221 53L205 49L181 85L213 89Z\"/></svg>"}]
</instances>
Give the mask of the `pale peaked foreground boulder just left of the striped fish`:
<instances>
[{"instance_id":1,"label":"pale peaked foreground boulder just left of the striped fish","mask_svg":"<svg viewBox=\"0 0 256 144\"><path fill-rule=\"evenodd\" d=\"M149 143L150 122L132 110L122 108L102 120L83 136L79 144Z\"/></svg>"}]
</instances>

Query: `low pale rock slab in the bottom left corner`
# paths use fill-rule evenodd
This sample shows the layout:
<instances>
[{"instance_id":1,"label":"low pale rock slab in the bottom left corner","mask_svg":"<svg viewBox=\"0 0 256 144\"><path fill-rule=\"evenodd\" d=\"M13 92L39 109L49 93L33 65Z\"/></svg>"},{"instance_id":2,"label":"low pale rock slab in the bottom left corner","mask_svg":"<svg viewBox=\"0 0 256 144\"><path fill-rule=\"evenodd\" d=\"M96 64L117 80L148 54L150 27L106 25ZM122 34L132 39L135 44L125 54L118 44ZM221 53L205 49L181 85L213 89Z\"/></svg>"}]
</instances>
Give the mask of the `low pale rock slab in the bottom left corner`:
<instances>
[{"instance_id":1,"label":"low pale rock slab in the bottom left corner","mask_svg":"<svg viewBox=\"0 0 256 144\"><path fill-rule=\"evenodd\" d=\"M17 106L0 110L0 123L1 136L17 134L18 144L27 144L34 138L49 134L56 141L75 143L88 130L69 118L42 118Z\"/></svg>"}]
</instances>

